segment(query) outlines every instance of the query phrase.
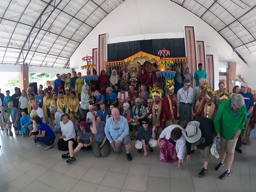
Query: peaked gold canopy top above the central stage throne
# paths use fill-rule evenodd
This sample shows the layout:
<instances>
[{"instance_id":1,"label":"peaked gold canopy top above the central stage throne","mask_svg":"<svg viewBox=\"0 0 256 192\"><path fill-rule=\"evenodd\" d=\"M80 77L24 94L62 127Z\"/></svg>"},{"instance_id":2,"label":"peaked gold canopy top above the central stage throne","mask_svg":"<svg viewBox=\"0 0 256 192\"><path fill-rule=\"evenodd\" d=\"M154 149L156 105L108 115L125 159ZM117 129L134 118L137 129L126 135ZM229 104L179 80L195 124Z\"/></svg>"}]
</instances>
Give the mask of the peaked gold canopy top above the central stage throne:
<instances>
[{"instance_id":1,"label":"peaked gold canopy top above the central stage throne","mask_svg":"<svg viewBox=\"0 0 256 192\"><path fill-rule=\"evenodd\" d=\"M149 53L145 53L143 51L140 51L140 52L124 59L124 61L126 61L126 62L137 61L138 63L140 63L140 65L143 65L145 61L154 63L159 59L160 59L160 57L158 57L158 56L151 55Z\"/></svg>"}]
</instances>

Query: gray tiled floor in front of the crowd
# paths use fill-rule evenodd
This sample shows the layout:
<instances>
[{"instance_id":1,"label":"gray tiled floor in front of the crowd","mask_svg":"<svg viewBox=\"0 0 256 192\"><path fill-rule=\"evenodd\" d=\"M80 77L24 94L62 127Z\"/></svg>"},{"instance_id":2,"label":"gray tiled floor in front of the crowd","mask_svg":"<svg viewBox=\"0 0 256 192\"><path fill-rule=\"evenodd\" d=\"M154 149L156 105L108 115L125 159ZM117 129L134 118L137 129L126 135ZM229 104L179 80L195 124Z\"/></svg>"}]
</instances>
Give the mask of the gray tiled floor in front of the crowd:
<instances>
[{"instance_id":1,"label":"gray tiled floor in front of the crowd","mask_svg":"<svg viewBox=\"0 0 256 192\"><path fill-rule=\"evenodd\" d=\"M217 172L219 160L211 158L205 178L197 177L202 168L201 155L191 155L191 162L183 162L183 172L177 163L159 161L159 148L148 151L144 159L134 147L133 161L127 161L125 148L120 154L96 158L92 151L76 154L74 163L61 158L62 151L54 147L46 151L37 147L28 136L5 136L0 133L0 191L254 191L256 192L255 148L243 146L243 154L235 154L231 176L220 180L226 166Z\"/></svg>"}]
</instances>

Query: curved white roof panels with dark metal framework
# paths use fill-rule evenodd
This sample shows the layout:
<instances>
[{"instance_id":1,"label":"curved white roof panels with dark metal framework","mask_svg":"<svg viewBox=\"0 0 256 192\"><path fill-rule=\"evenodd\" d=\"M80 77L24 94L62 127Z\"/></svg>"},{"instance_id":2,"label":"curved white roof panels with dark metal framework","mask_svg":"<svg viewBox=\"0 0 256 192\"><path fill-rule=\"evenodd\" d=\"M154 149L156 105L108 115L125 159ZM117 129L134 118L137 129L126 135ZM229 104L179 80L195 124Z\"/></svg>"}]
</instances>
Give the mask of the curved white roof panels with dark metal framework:
<instances>
[{"instance_id":1,"label":"curved white roof panels with dark metal framework","mask_svg":"<svg viewBox=\"0 0 256 192\"><path fill-rule=\"evenodd\" d=\"M124 1L0 0L0 63L69 68L82 40ZM238 56L256 51L256 0L172 2L214 28Z\"/></svg>"}]
</instances>

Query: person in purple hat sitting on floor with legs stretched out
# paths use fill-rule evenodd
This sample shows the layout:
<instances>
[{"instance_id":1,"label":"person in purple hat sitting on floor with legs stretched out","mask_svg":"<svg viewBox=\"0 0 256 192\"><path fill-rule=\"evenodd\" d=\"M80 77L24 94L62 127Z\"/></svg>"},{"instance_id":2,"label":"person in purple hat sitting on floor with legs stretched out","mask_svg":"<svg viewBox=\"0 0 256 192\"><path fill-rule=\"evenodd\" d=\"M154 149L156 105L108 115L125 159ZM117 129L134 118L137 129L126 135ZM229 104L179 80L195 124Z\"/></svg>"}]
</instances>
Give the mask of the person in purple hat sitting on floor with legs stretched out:
<instances>
[{"instance_id":1,"label":"person in purple hat sitting on floor with legs stretched out","mask_svg":"<svg viewBox=\"0 0 256 192\"><path fill-rule=\"evenodd\" d=\"M76 158L74 157L74 154L79 152L80 150L91 150L92 144L93 144L93 133L91 132L90 128L87 126L86 121L81 121L79 124L76 124L77 126L80 126L80 130L77 132L77 147L75 150L73 150L73 143L69 144L69 153L62 154L62 158L69 158L66 162L71 163L72 161L75 161Z\"/></svg>"}]
</instances>

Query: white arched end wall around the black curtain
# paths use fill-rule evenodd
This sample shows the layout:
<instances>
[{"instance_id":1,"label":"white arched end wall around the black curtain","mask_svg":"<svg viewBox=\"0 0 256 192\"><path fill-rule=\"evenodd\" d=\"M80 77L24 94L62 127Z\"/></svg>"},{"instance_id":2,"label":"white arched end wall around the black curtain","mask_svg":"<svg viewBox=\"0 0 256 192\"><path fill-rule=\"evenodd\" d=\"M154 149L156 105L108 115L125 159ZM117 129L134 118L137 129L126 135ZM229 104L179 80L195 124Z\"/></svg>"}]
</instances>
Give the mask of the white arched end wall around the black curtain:
<instances>
[{"instance_id":1,"label":"white arched end wall around the black curtain","mask_svg":"<svg viewBox=\"0 0 256 192\"><path fill-rule=\"evenodd\" d=\"M169 0L123 2L82 41L70 58L70 67L79 68L84 65L81 58L86 54L92 54L92 48L98 47L98 34L108 33L108 43L161 38L166 34L172 34L170 38L173 38L173 36L184 36L184 26L195 26L196 39L205 41L207 54L214 54L215 87L219 77L219 61L237 62L237 72L242 74L245 64L227 42L198 16ZM243 55L248 56L250 61L253 60L252 54L247 51Z\"/></svg>"}]
</instances>

